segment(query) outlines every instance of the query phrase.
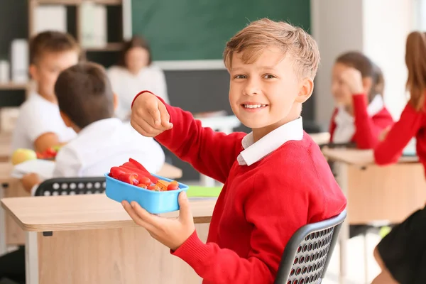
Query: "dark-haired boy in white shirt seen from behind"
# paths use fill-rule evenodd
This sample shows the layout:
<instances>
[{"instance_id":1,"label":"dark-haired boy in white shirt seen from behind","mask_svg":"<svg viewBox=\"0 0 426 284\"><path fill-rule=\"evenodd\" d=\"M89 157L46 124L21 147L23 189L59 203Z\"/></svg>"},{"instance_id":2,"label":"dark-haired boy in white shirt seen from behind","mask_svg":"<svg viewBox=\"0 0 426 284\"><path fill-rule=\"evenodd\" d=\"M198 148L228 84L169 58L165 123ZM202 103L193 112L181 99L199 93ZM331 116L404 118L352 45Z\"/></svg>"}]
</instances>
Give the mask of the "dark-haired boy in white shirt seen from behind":
<instances>
[{"instance_id":1,"label":"dark-haired boy in white shirt seen from behind","mask_svg":"<svg viewBox=\"0 0 426 284\"><path fill-rule=\"evenodd\" d=\"M129 158L151 173L163 167L160 145L113 117L116 96L102 66L82 62L67 68L58 77L55 94L65 125L77 133L56 156L55 178L102 176ZM26 190L35 190L39 182L36 175L23 178Z\"/></svg>"}]
</instances>

